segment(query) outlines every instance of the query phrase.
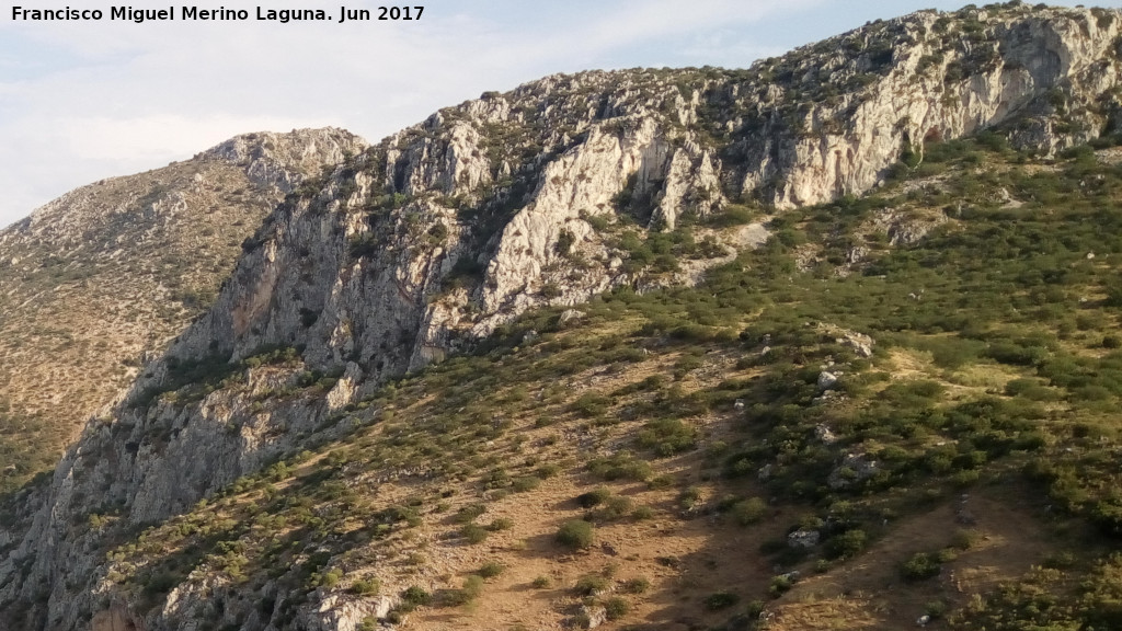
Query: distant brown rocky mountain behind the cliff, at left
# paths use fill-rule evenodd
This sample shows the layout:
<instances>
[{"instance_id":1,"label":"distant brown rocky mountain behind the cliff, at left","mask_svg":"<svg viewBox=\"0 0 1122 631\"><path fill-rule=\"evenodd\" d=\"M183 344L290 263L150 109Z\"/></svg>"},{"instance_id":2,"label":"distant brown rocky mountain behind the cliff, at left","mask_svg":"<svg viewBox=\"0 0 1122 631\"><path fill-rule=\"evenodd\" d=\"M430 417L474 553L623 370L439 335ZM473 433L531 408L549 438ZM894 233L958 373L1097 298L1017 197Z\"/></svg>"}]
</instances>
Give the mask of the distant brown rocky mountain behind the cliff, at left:
<instances>
[{"instance_id":1,"label":"distant brown rocky mountain behind the cliff, at left","mask_svg":"<svg viewBox=\"0 0 1122 631\"><path fill-rule=\"evenodd\" d=\"M109 413L139 366L210 307L268 212L364 148L335 129L248 134L83 186L0 231L4 484L53 467L82 424Z\"/></svg>"}]
</instances>

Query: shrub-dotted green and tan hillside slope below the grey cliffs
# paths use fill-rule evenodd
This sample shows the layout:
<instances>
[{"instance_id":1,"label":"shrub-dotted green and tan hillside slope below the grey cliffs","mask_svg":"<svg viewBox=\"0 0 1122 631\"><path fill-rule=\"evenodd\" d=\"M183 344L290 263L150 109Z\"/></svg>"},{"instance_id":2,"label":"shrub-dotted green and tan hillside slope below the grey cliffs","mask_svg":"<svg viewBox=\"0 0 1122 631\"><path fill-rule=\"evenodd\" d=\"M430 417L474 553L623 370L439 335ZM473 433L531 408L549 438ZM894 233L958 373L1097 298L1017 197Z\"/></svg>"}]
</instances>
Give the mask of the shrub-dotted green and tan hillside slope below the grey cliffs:
<instances>
[{"instance_id":1,"label":"shrub-dotted green and tan hillside slope below the grey cliffs","mask_svg":"<svg viewBox=\"0 0 1122 631\"><path fill-rule=\"evenodd\" d=\"M928 149L696 287L535 310L293 428L182 515L101 505L70 525L105 559L94 628L1115 620L1120 154ZM174 395L249 422L163 431L259 432L323 405L316 377L250 356Z\"/></svg>"}]
</instances>

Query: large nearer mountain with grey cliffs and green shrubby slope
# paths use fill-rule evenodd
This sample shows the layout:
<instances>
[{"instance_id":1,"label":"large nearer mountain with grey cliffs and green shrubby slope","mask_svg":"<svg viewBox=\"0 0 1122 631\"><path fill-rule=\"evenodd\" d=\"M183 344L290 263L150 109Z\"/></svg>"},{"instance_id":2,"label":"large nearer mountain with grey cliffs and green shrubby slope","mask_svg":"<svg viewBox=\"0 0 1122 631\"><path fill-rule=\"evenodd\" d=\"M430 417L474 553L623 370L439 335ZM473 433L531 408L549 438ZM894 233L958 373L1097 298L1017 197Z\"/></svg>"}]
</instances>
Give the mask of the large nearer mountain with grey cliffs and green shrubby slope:
<instances>
[{"instance_id":1,"label":"large nearer mountain with grey cliffs and green shrubby slope","mask_svg":"<svg viewBox=\"0 0 1122 631\"><path fill-rule=\"evenodd\" d=\"M1120 31L926 11L346 157L10 500L0 612L1110 628Z\"/></svg>"}]
</instances>

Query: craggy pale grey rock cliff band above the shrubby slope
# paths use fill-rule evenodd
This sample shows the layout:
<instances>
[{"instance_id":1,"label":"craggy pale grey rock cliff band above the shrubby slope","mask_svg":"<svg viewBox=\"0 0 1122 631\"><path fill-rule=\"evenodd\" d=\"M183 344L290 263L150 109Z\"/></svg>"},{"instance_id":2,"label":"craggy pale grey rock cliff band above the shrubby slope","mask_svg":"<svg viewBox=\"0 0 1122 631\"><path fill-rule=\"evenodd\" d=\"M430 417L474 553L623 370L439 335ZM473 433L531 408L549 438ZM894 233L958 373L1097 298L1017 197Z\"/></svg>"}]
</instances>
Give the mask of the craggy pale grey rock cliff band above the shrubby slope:
<instances>
[{"instance_id":1,"label":"craggy pale grey rock cliff band above the shrubby slope","mask_svg":"<svg viewBox=\"0 0 1122 631\"><path fill-rule=\"evenodd\" d=\"M291 628L276 614L287 595L273 612L249 606L205 573L155 606L119 594L104 546L527 309L671 282L677 250L660 230L696 225L690 239L709 245L681 252L703 267L728 259L709 219L861 193L902 154L921 159L925 140L994 128L1051 153L1097 136L1118 118L1120 26L1097 9L921 12L748 71L550 76L441 110L305 180L246 239L212 308L58 464L43 507L9 534L0 613L61 631L96 615L150 631L202 615ZM218 152L254 155L238 141ZM246 173L295 184L268 165ZM675 247L695 243L683 230ZM328 392L260 404L305 374L330 375ZM835 473L844 486L875 463L854 455ZM88 525L102 506L120 519ZM292 606L310 629L360 611L304 596ZM105 618L113 607L123 613Z\"/></svg>"}]
</instances>

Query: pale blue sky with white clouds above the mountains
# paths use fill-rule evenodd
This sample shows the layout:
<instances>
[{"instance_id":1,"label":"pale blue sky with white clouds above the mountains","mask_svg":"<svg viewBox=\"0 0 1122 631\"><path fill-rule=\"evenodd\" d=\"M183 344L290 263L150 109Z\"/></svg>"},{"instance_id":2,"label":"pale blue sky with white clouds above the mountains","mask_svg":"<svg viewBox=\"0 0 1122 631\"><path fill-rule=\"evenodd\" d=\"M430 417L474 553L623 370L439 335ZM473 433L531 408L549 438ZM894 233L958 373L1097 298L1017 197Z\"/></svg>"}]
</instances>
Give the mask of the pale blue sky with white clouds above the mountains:
<instances>
[{"instance_id":1,"label":"pale blue sky with white clouds above the mountains","mask_svg":"<svg viewBox=\"0 0 1122 631\"><path fill-rule=\"evenodd\" d=\"M374 143L433 111L559 72L636 66L747 67L753 61L942 0L414 0L421 19L325 22L101 20L0 13L0 227L90 182L157 168L249 131L347 128ZM187 0L188 2L191 0ZM1070 2L1074 4L1075 2ZM1122 0L1097 2L1120 7ZM118 4L120 6L120 4ZM403 4L399 4L403 6Z\"/></svg>"}]
</instances>

